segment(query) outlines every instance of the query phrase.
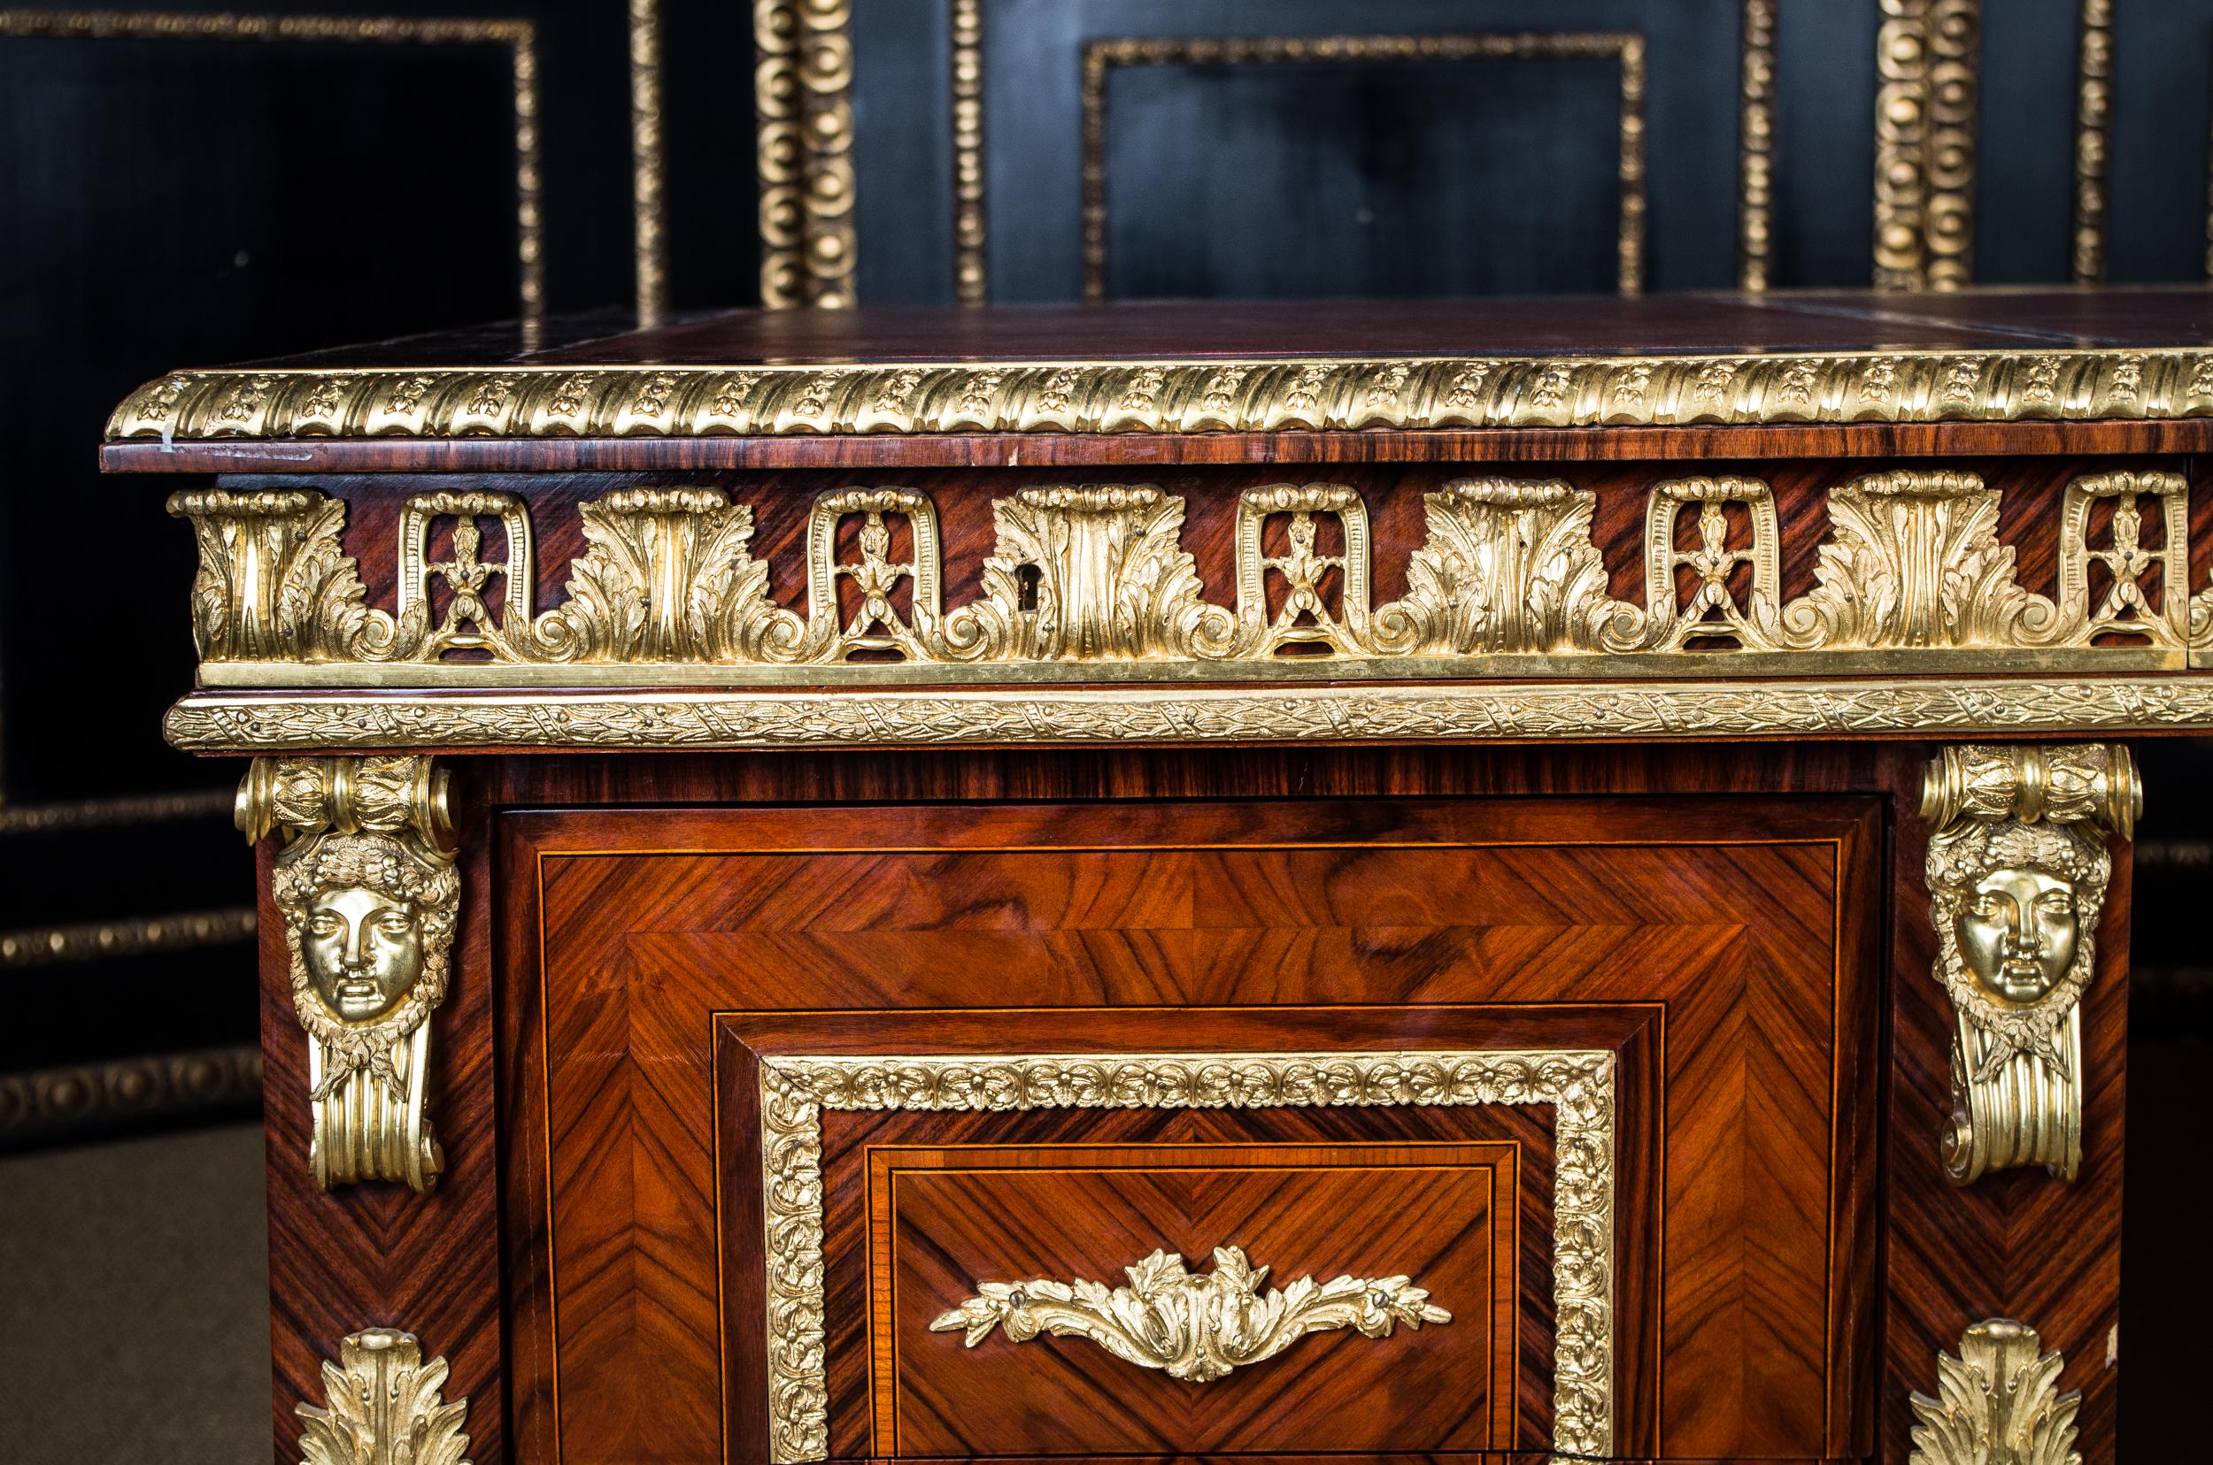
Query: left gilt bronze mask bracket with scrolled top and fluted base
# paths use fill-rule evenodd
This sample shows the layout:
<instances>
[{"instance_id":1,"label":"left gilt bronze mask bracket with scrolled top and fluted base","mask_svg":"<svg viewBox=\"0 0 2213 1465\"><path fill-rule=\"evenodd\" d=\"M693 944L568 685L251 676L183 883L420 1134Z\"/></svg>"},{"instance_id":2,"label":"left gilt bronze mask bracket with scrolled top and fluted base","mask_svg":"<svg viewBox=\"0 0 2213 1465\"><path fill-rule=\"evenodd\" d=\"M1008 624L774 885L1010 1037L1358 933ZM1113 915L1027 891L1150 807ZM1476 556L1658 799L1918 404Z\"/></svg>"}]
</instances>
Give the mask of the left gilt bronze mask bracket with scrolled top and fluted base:
<instances>
[{"instance_id":1,"label":"left gilt bronze mask bracket with scrolled top and fluted base","mask_svg":"<svg viewBox=\"0 0 2213 1465\"><path fill-rule=\"evenodd\" d=\"M394 1180L427 1195L445 1168L425 1118L429 1016L460 912L445 770L427 757L257 757L237 825L248 841L283 837L270 898L308 1031L316 1188Z\"/></svg>"}]
</instances>

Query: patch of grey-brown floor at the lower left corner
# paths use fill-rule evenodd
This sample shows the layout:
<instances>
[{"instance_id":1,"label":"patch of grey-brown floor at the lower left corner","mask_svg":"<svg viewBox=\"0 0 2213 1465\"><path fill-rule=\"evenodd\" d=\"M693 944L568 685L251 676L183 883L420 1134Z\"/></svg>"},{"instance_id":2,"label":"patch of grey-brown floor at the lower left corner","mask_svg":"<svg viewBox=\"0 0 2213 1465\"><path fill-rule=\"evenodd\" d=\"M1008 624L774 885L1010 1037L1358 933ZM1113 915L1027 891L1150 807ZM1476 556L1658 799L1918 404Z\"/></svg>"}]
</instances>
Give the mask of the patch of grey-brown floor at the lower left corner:
<instances>
[{"instance_id":1,"label":"patch of grey-brown floor at the lower left corner","mask_svg":"<svg viewBox=\"0 0 2213 1465\"><path fill-rule=\"evenodd\" d=\"M261 1124L0 1155L9 1465L270 1458Z\"/></svg>"}]
</instances>

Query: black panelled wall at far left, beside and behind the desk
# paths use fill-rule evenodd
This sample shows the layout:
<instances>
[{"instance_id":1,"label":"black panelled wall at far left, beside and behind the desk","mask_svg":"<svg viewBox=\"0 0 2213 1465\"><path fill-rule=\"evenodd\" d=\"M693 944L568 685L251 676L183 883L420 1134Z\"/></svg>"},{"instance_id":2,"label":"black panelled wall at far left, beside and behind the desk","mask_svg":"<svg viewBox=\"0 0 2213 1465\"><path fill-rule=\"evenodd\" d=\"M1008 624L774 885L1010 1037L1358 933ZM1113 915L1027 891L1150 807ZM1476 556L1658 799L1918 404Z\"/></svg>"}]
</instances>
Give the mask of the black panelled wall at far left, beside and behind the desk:
<instances>
[{"instance_id":1,"label":"black panelled wall at far left, beside and behind the desk","mask_svg":"<svg viewBox=\"0 0 2213 1465\"><path fill-rule=\"evenodd\" d=\"M538 27L547 299L628 303L624 7L489 13ZM746 301L750 15L662 13L679 299ZM193 677L193 540L162 511L173 485L95 471L108 409L173 365L511 319L520 285L507 46L22 29L0 22L0 983L18 1018L0 1076L254 1036L252 861L224 808L239 766L159 735ZM177 914L210 921L148 947L146 918ZM69 929L89 923L137 954L97 956ZM55 929L71 960L51 958ZM33 1129L20 1093L0 1082L0 1144Z\"/></svg>"}]
</instances>

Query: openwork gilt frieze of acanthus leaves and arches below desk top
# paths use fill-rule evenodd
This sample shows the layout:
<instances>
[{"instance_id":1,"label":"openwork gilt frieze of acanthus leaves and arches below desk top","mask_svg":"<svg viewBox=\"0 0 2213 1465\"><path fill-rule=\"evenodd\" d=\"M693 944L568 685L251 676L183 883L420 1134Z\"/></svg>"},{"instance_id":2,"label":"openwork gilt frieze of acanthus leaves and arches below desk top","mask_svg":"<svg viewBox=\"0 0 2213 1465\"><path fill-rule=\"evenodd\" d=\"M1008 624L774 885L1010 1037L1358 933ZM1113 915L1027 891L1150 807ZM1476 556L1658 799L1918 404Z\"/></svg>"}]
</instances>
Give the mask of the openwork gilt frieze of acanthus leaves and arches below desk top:
<instances>
[{"instance_id":1,"label":"openwork gilt frieze of acanthus leaves and arches below desk top","mask_svg":"<svg viewBox=\"0 0 2213 1465\"><path fill-rule=\"evenodd\" d=\"M2056 595L2020 584L2001 505L1963 471L1837 485L1812 584L1786 602L1775 493L1757 478L1655 482L1633 578L1593 540L1596 491L1463 478L1423 496L1405 591L1379 604L1361 496L1270 485L1239 496L1219 604L1184 547L1182 498L1153 485L1029 487L991 502L978 593L947 606L938 511L923 491L817 498L806 591L783 604L752 553L750 505L640 487L580 505L584 553L538 611L520 498L416 493L398 516L387 611L345 551L343 502L312 489L170 500L199 538L193 620L206 675L224 686L624 682L651 668L788 684L825 666L854 684L1728 675L1717 651L1768 657L1737 671L1843 673L1956 657L1985 671L2155 671L2213 657L2213 591L2189 598L2180 474L2076 478L2060 505ZM1622 580L1642 586L1615 595Z\"/></svg>"}]
</instances>

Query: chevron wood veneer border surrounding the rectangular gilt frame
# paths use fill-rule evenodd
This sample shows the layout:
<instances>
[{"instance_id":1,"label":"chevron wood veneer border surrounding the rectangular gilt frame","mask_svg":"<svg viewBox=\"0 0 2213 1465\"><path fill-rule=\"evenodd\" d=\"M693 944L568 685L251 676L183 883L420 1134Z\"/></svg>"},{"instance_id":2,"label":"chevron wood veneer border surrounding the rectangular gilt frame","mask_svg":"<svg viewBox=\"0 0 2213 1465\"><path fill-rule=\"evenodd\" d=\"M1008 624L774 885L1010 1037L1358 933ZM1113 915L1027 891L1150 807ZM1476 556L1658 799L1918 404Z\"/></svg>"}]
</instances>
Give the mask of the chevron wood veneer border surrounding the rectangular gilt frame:
<instances>
[{"instance_id":1,"label":"chevron wood veneer border surrounding the rectangular gilt frame","mask_svg":"<svg viewBox=\"0 0 2213 1465\"><path fill-rule=\"evenodd\" d=\"M735 1208L752 1204L757 1171L733 1160L752 1120L741 1089L717 1106L708 1018L814 1051L786 1029L830 1018L775 1016L794 1009L852 1014L837 1051L1609 1047L1624 1062L1620 1447L1857 1447L1846 1277L1868 1255L1866 1175L1839 1122L1874 1071L1861 1047L1872 806L867 806L505 828L533 1009L509 1122L551 1197L542 1217L516 1217L540 1237L516 1261L540 1301L516 1303L513 1368L524 1432L569 1458L752 1458L759 1279L735 1259L759 1222ZM947 1146L921 1122L945 1118L885 1133ZM1014 1120L1036 1115L1000 1118ZM1014 1126L991 1142L1509 1137L1182 1124ZM865 1213L859 1191L850 1211ZM1549 1255L1531 1230L1545 1241L1525 1226L1523 1255ZM834 1288L837 1272L832 1259ZM841 1447L859 1450L867 1390L839 1390Z\"/></svg>"}]
</instances>

